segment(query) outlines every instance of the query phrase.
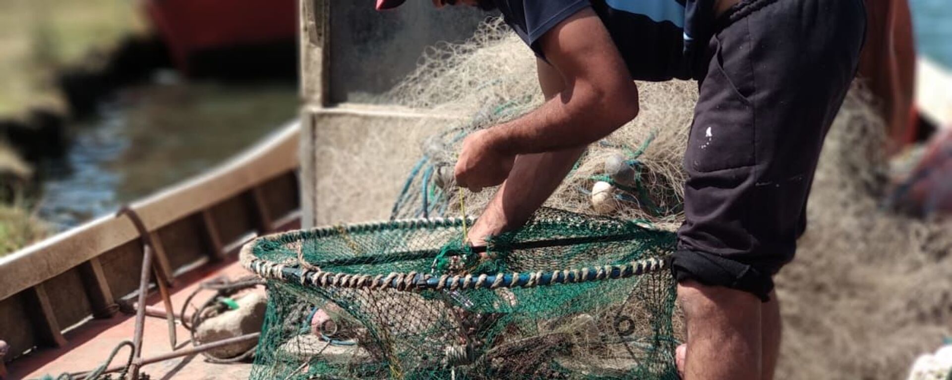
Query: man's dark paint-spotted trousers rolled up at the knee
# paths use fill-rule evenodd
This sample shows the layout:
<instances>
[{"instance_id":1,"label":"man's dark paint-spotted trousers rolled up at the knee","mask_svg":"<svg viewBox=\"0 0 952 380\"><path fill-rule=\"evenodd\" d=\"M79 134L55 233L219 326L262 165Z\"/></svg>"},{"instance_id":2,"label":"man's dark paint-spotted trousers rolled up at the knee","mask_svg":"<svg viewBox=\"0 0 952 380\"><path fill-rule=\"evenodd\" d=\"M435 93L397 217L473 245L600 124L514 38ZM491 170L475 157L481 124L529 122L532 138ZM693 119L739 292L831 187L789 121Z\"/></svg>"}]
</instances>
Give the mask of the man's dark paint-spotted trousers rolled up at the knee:
<instances>
[{"instance_id":1,"label":"man's dark paint-spotted trousers rolled up at the knee","mask_svg":"<svg viewBox=\"0 0 952 380\"><path fill-rule=\"evenodd\" d=\"M710 39L672 267L766 300L793 259L823 138L859 64L862 0L744 0Z\"/></svg>"}]
</instances>

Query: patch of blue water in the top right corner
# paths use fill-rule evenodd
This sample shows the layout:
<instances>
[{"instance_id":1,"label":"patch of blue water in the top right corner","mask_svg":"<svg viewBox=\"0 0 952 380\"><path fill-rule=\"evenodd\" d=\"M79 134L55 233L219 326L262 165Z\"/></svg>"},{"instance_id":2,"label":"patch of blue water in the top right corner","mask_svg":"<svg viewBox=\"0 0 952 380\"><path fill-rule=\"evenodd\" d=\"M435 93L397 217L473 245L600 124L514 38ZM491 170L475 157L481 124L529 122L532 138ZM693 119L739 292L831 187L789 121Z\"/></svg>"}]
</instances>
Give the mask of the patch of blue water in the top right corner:
<instances>
[{"instance_id":1,"label":"patch of blue water in the top right corner","mask_svg":"<svg viewBox=\"0 0 952 380\"><path fill-rule=\"evenodd\" d=\"M919 53L952 69L952 1L909 0L909 7Z\"/></svg>"}]
</instances>

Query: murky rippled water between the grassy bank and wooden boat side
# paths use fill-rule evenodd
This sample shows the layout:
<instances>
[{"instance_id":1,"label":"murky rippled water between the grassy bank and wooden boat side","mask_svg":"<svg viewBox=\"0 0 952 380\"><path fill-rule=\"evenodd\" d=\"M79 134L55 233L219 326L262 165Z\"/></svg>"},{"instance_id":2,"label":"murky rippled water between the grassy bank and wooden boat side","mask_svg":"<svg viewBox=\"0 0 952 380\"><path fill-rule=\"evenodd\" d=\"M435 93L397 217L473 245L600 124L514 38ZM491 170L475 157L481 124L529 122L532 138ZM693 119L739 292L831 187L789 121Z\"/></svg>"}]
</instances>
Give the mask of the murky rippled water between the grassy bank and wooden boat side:
<instances>
[{"instance_id":1,"label":"murky rippled water between the grassy bank and wooden boat side","mask_svg":"<svg viewBox=\"0 0 952 380\"><path fill-rule=\"evenodd\" d=\"M59 231L112 212L224 161L294 117L294 85L148 85L100 117L70 125L65 159L47 167L38 214Z\"/></svg>"}]
</instances>

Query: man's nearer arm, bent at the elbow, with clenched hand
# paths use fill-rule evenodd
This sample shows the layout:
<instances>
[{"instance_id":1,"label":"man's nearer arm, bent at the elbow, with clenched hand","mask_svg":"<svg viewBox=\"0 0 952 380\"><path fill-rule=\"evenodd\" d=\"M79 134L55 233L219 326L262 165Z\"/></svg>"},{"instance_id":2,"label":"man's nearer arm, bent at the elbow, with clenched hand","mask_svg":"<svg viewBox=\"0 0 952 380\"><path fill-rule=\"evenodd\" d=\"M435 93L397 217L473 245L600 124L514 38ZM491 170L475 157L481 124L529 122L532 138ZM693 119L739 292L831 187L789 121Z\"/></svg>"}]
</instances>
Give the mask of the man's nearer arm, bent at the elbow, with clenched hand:
<instances>
[{"instance_id":1,"label":"man's nearer arm, bent at the elbow, with clenched hand","mask_svg":"<svg viewBox=\"0 0 952 380\"><path fill-rule=\"evenodd\" d=\"M638 89L593 10L567 18L540 44L565 86L526 116L468 137L456 165L461 186L500 184L510 177L515 156L584 146L638 114Z\"/></svg>"}]
</instances>

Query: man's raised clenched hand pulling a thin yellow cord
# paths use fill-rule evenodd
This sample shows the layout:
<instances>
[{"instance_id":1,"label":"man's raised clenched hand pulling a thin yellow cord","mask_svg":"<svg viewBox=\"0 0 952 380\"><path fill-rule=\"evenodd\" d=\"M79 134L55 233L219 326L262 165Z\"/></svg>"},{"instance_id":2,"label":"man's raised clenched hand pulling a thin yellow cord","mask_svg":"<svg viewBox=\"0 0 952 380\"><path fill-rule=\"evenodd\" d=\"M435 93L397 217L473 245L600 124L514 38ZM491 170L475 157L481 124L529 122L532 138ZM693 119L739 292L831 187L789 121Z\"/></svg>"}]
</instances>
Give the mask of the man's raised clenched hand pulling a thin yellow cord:
<instances>
[{"instance_id":1,"label":"man's raised clenched hand pulling a thin yellow cord","mask_svg":"<svg viewBox=\"0 0 952 380\"><path fill-rule=\"evenodd\" d=\"M474 192L499 185L506 180L515 160L516 156L504 154L493 146L489 130L475 132L463 141L463 150L456 161L456 183Z\"/></svg>"}]
</instances>

